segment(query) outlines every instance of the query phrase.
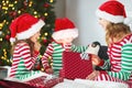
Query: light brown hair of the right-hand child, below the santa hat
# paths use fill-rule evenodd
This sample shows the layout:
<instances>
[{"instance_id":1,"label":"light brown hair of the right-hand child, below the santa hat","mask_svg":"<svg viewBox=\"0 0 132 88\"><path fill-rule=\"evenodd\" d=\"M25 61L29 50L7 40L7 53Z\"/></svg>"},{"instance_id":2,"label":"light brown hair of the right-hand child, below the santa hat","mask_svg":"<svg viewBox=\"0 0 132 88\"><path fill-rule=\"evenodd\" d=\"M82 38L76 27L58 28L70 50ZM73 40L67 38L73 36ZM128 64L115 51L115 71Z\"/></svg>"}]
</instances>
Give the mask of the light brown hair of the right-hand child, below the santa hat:
<instances>
[{"instance_id":1,"label":"light brown hair of the right-hand child, below the santa hat","mask_svg":"<svg viewBox=\"0 0 132 88\"><path fill-rule=\"evenodd\" d=\"M109 45L113 38L121 40L130 33L131 30L128 25L123 23L110 23L106 29L106 42Z\"/></svg>"}]
</instances>

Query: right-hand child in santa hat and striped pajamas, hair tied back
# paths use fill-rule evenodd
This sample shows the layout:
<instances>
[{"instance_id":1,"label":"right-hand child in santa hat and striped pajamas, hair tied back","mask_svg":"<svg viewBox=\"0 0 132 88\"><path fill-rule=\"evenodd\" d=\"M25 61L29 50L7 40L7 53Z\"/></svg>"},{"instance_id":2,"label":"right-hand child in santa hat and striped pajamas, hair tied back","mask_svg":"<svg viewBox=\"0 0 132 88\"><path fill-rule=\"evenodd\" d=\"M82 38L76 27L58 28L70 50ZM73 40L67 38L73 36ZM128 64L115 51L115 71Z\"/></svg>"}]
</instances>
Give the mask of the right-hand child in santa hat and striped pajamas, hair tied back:
<instances>
[{"instance_id":1,"label":"right-hand child in santa hat and striped pajamas, hair tied back","mask_svg":"<svg viewBox=\"0 0 132 88\"><path fill-rule=\"evenodd\" d=\"M109 0L99 7L97 16L99 16L99 24L106 31L109 59L100 62L100 58L96 55L91 59L92 62L96 61L95 65L100 66L102 69L110 67L110 70L96 70L87 79L118 82L131 80L132 33L130 26L125 24L127 15L124 6L117 0ZM119 86L118 88L121 87Z\"/></svg>"}]
</instances>

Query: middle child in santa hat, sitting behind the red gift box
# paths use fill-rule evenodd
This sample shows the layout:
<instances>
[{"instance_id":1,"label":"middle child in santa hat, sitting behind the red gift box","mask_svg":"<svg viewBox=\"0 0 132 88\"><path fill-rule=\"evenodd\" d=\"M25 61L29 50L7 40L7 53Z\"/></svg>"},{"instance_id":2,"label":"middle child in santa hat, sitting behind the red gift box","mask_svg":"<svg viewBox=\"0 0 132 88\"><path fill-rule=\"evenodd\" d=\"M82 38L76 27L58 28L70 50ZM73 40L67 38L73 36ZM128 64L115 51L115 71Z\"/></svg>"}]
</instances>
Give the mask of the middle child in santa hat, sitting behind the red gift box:
<instances>
[{"instance_id":1,"label":"middle child in santa hat, sitting behind the red gift box","mask_svg":"<svg viewBox=\"0 0 132 88\"><path fill-rule=\"evenodd\" d=\"M87 46L77 47L72 44L72 42L78 36L78 30L67 18L56 19L55 30L52 36L54 41L47 46L47 50L42 57L42 63L46 73L53 74L54 70L54 74L58 75L59 69L62 69L63 52L82 52ZM53 59L53 68L48 65L48 58Z\"/></svg>"}]
</instances>

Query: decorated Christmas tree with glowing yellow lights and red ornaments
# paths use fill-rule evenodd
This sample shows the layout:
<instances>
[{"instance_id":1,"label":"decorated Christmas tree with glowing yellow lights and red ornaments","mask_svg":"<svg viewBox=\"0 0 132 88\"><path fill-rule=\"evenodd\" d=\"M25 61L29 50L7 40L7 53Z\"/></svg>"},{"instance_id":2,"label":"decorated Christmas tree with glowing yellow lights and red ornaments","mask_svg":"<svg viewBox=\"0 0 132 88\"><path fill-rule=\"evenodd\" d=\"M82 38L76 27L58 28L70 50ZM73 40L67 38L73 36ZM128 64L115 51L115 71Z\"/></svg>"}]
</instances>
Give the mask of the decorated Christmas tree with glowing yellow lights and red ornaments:
<instances>
[{"instance_id":1,"label":"decorated Christmas tree with glowing yellow lights and red ornaments","mask_svg":"<svg viewBox=\"0 0 132 88\"><path fill-rule=\"evenodd\" d=\"M41 30L41 54L51 42L54 29L55 0L2 0L0 1L0 65L11 65L10 23L22 13L30 13L43 19L45 26Z\"/></svg>"}]
</instances>

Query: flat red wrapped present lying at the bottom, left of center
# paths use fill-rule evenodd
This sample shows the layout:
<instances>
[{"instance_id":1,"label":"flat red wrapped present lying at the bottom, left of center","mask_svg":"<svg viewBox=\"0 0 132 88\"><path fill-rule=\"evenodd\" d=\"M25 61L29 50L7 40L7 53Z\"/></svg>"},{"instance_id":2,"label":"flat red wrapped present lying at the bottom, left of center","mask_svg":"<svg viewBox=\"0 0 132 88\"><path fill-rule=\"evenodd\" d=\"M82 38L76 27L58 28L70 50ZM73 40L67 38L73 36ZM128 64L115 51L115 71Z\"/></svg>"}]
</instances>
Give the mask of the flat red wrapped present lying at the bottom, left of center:
<instances>
[{"instance_id":1,"label":"flat red wrapped present lying at the bottom, left of center","mask_svg":"<svg viewBox=\"0 0 132 88\"><path fill-rule=\"evenodd\" d=\"M37 88L52 88L58 82L62 82L64 79L61 77L50 78L47 79L46 76L42 76L32 80L26 81L30 86L37 87Z\"/></svg>"}]
</instances>

